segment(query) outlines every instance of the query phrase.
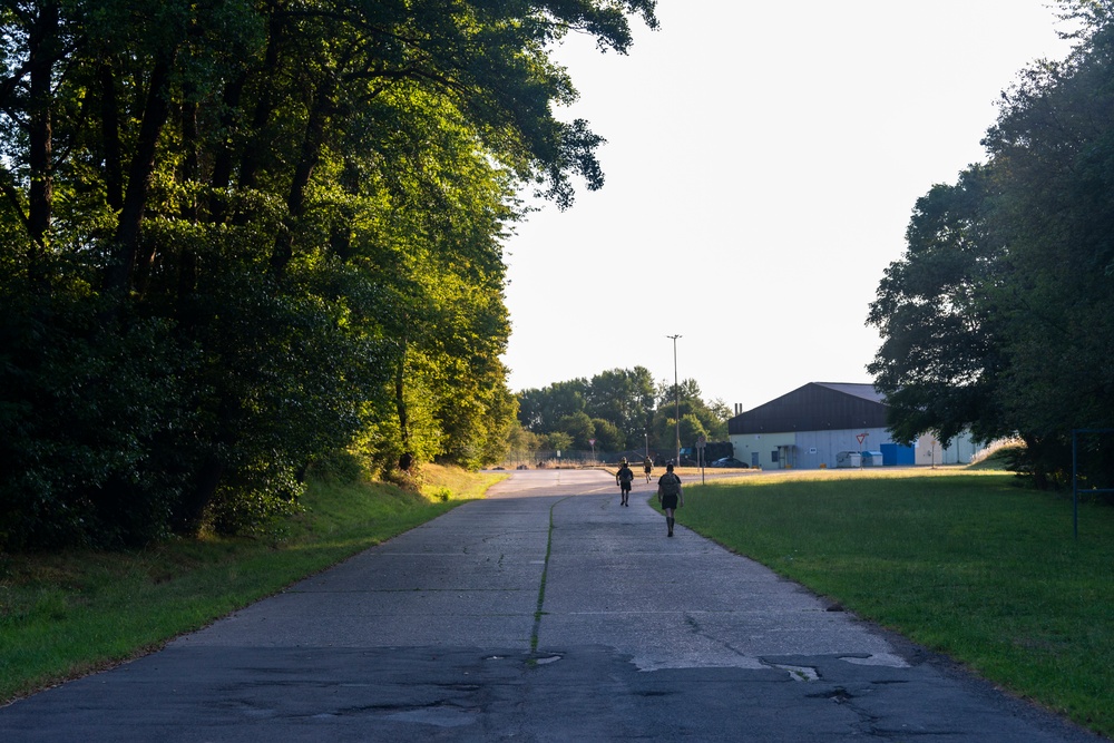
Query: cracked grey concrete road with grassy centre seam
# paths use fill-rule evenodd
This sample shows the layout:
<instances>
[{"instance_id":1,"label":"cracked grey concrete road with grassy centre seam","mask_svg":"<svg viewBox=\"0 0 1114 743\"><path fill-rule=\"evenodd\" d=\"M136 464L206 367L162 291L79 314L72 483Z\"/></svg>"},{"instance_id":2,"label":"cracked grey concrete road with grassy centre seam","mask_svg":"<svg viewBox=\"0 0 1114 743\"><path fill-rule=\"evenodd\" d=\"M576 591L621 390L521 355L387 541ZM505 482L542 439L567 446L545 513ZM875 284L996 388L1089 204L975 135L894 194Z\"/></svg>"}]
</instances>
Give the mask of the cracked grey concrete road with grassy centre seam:
<instances>
[{"instance_id":1,"label":"cracked grey concrete road with grassy centre seam","mask_svg":"<svg viewBox=\"0 0 1114 743\"><path fill-rule=\"evenodd\" d=\"M683 527L529 471L182 637L0 710L0 741L1098 739Z\"/></svg>"}]
</instances>

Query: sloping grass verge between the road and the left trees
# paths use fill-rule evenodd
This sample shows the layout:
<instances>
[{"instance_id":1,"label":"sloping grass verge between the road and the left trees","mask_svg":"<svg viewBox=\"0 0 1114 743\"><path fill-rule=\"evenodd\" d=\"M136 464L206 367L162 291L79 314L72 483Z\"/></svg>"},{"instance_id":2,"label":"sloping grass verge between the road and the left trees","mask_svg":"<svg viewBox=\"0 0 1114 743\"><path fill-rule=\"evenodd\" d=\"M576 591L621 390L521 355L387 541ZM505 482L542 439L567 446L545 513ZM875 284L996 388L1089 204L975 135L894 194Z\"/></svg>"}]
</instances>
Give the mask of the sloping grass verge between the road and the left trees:
<instances>
[{"instance_id":1,"label":"sloping grass verge between the road and the left trees","mask_svg":"<svg viewBox=\"0 0 1114 743\"><path fill-rule=\"evenodd\" d=\"M480 497L492 475L426 466L422 495L316 480L305 512L262 539L138 553L0 554L0 704L168 639Z\"/></svg>"}]
</instances>

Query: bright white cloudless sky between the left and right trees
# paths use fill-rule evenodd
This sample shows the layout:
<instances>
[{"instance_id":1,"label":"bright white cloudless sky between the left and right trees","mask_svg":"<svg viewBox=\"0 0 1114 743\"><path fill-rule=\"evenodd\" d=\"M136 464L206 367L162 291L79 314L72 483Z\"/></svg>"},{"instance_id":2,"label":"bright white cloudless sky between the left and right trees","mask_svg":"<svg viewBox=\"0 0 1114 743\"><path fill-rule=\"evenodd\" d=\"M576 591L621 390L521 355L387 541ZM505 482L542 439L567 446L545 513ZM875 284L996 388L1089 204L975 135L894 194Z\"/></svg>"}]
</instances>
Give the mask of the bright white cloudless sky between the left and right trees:
<instances>
[{"instance_id":1,"label":"bright white cloudless sky between the left and right trees","mask_svg":"<svg viewBox=\"0 0 1114 743\"><path fill-rule=\"evenodd\" d=\"M629 56L558 52L607 182L507 243L514 391L646 366L749 410L868 382L916 199L1067 42L1048 0L661 0Z\"/></svg>"}]
</instances>

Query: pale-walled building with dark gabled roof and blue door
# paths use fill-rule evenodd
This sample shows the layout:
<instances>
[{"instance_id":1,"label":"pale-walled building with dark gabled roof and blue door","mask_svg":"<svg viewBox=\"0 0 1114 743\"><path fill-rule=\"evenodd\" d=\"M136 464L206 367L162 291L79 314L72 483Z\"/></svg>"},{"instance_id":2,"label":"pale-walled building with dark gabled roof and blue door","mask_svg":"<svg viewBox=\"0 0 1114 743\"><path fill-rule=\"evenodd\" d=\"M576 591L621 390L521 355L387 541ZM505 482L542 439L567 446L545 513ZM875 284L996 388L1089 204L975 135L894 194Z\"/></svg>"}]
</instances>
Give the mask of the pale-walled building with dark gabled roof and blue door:
<instances>
[{"instance_id":1,"label":"pale-walled building with dark gabled roof and blue door","mask_svg":"<svg viewBox=\"0 0 1114 743\"><path fill-rule=\"evenodd\" d=\"M729 420L727 438L737 459L763 469L941 465L975 453L969 438L947 450L930 434L912 447L897 443L886 413L873 384L810 382Z\"/></svg>"}]
</instances>

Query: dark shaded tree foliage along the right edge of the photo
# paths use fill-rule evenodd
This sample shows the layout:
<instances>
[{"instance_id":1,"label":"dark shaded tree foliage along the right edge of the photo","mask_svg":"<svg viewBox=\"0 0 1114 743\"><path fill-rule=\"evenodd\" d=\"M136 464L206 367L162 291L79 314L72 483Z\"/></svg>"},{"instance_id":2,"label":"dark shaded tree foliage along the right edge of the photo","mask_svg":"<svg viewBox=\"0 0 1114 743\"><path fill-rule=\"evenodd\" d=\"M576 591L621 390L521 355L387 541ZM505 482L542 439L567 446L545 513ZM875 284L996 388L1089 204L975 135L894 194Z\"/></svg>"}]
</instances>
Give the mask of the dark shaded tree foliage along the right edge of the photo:
<instances>
[{"instance_id":1,"label":"dark shaded tree foliage along the right edge of the photo","mask_svg":"<svg viewBox=\"0 0 1114 743\"><path fill-rule=\"evenodd\" d=\"M1024 70L987 162L918 201L868 317L900 438L1020 436L1042 481L1069 469L1073 429L1114 427L1114 2L1062 14L1073 52Z\"/></svg>"}]
</instances>

